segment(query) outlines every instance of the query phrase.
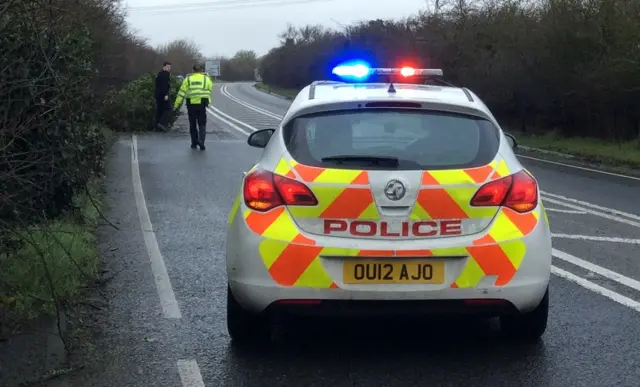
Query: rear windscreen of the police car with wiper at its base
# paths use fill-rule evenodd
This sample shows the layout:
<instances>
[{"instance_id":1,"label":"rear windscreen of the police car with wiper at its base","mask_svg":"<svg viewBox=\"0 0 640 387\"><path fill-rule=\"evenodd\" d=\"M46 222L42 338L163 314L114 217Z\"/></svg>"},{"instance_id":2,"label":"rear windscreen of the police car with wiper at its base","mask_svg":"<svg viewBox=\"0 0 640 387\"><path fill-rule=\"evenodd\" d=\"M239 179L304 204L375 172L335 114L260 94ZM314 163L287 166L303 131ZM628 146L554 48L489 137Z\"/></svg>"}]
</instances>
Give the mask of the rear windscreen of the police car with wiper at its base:
<instances>
[{"instance_id":1,"label":"rear windscreen of the police car with wiper at its base","mask_svg":"<svg viewBox=\"0 0 640 387\"><path fill-rule=\"evenodd\" d=\"M285 126L283 135L299 163L349 169L473 168L490 163L500 144L498 130L488 120L406 109L301 116Z\"/></svg>"}]
</instances>

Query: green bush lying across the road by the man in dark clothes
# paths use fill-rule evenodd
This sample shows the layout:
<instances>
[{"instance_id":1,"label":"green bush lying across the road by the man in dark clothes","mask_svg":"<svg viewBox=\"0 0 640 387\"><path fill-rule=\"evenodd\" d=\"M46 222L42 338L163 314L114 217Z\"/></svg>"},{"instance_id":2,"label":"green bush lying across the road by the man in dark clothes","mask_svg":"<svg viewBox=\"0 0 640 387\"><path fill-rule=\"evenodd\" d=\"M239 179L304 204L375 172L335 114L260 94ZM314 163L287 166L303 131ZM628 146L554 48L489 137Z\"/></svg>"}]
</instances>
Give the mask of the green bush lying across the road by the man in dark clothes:
<instances>
[{"instance_id":1,"label":"green bush lying across the road by the man in dark clothes","mask_svg":"<svg viewBox=\"0 0 640 387\"><path fill-rule=\"evenodd\" d=\"M180 82L171 78L169 101L173 106L180 89ZM114 91L107 100L102 119L116 132L142 132L154 129L156 111L155 74L146 74ZM179 112L169 113L169 125L179 117Z\"/></svg>"}]
</instances>

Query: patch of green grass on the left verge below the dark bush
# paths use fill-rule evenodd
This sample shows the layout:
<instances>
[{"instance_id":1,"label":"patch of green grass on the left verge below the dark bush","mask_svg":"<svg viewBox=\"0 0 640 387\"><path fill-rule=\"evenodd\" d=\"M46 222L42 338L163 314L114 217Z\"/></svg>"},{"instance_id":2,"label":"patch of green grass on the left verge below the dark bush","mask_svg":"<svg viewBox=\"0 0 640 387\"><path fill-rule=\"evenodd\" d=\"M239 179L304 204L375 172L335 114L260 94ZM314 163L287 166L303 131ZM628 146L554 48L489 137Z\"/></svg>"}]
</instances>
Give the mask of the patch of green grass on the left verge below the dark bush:
<instances>
[{"instance_id":1,"label":"patch of green grass on the left verge below the dark bush","mask_svg":"<svg viewBox=\"0 0 640 387\"><path fill-rule=\"evenodd\" d=\"M2 336L19 331L22 322L53 315L56 301L64 306L73 303L97 278L95 228L102 203L101 183L93 180L88 193L74 198L75 211L14 232L11 239L19 243L19 249L0 255L0 325L9 330L0 332Z\"/></svg>"}]
</instances>

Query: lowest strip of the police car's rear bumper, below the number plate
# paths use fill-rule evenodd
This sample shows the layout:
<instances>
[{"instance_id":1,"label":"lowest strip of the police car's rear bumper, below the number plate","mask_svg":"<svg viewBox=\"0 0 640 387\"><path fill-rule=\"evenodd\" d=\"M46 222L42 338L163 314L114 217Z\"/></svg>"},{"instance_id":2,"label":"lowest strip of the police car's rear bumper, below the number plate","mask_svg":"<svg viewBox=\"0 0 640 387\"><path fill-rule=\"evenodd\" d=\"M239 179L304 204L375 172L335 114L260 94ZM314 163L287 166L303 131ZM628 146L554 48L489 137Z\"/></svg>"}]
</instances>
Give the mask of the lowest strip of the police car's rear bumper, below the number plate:
<instances>
[{"instance_id":1,"label":"lowest strip of the police car's rear bumper, below the number plate","mask_svg":"<svg viewBox=\"0 0 640 387\"><path fill-rule=\"evenodd\" d=\"M504 315L534 309L548 278L522 286L437 291L353 291L261 286L230 281L231 291L248 311L305 315Z\"/></svg>"}]
</instances>

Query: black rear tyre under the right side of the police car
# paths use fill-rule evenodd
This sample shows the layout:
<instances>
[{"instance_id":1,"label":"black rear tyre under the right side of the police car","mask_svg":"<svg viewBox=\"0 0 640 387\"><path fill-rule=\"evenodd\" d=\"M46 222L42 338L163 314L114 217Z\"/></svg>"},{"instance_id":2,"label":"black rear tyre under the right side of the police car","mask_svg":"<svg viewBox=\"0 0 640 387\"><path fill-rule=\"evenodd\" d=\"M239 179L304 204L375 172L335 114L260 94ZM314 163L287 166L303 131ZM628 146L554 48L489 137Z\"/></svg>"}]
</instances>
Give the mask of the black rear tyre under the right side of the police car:
<instances>
[{"instance_id":1,"label":"black rear tyre under the right side of the police car","mask_svg":"<svg viewBox=\"0 0 640 387\"><path fill-rule=\"evenodd\" d=\"M523 340L537 341L547 330L549 318L549 288L544 293L540 304L531 312L520 315L502 316L500 325L502 332L508 337Z\"/></svg>"}]
</instances>

